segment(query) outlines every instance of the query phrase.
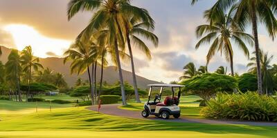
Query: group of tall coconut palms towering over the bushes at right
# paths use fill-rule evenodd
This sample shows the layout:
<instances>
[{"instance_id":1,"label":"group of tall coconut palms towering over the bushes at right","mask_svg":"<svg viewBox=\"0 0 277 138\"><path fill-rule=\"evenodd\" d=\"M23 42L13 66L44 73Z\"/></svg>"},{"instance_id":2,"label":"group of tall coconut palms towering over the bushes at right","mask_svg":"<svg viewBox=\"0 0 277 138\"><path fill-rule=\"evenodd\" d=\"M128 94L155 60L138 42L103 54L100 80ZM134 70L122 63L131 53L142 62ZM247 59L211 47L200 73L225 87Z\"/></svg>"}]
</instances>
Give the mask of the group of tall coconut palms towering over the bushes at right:
<instances>
[{"instance_id":1,"label":"group of tall coconut palms towering over the bushes at right","mask_svg":"<svg viewBox=\"0 0 277 138\"><path fill-rule=\"evenodd\" d=\"M192 0L192 5L199 0ZM249 57L249 46L254 46L256 75L258 79L258 92L260 95L267 90L268 81L264 78L268 74L263 72L263 57L260 53L260 44L258 39L258 23L265 26L271 39L276 37L277 20L274 15L277 14L276 0L217 0L215 4L204 12L204 18L208 24L197 28L197 37L201 38L195 48L199 48L204 43L211 43L211 47L206 56L207 65L215 52L223 52L226 60L230 62L231 75L233 71L233 48L232 41ZM244 30L251 26L253 34L247 34ZM253 65L253 64L252 64ZM265 87L265 88L263 88Z\"/></svg>"}]
</instances>

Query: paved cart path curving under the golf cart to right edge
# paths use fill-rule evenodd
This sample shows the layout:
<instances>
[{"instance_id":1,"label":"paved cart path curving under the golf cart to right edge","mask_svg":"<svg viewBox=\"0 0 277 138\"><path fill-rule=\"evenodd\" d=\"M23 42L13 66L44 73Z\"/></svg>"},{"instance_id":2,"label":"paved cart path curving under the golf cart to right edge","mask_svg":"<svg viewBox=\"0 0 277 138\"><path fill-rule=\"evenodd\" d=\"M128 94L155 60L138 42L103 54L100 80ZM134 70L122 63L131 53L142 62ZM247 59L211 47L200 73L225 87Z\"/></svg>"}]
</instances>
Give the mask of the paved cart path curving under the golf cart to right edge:
<instances>
[{"instance_id":1,"label":"paved cart path curving under the golf cart to right edge","mask_svg":"<svg viewBox=\"0 0 277 138\"><path fill-rule=\"evenodd\" d=\"M161 119L150 115L148 118L141 116L141 111L133 110L123 110L118 108L120 104L109 104L101 105L100 112L107 115L115 115L120 117L135 118L135 119L150 119L150 120L161 120L161 121L171 121L171 122L182 122L182 123L202 123L202 124L243 124L251 126L277 126L277 123L274 122L256 122L256 121L220 121L212 119L192 119L188 117L180 117L179 119L174 119L170 116L170 119ZM87 109L97 111L98 106L89 106Z\"/></svg>"}]
</instances>

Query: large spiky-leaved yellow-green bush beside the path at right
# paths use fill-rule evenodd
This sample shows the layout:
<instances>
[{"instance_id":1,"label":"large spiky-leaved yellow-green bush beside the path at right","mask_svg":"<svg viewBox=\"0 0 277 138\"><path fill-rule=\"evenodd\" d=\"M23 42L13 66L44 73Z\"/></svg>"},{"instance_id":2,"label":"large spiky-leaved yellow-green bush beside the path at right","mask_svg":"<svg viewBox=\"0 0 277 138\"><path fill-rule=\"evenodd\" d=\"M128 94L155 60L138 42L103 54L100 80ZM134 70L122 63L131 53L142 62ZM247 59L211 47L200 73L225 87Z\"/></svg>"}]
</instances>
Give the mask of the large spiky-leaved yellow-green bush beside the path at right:
<instances>
[{"instance_id":1,"label":"large spiky-leaved yellow-green bush beside the path at right","mask_svg":"<svg viewBox=\"0 0 277 138\"><path fill-rule=\"evenodd\" d=\"M277 100L257 92L240 94L219 93L207 101L201 115L213 119L277 121Z\"/></svg>"}]
</instances>

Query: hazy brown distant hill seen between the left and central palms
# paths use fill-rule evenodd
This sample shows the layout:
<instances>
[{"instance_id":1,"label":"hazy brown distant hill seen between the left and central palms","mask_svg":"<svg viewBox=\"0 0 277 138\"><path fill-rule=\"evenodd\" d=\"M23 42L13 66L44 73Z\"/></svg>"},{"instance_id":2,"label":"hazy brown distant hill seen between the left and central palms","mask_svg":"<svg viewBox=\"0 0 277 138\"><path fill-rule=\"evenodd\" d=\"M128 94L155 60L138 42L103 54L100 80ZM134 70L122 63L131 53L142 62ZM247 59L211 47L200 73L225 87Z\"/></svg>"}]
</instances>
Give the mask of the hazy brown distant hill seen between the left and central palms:
<instances>
[{"instance_id":1,"label":"hazy brown distant hill seen between the left and central palms","mask_svg":"<svg viewBox=\"0 0 277 138\"><path fill-rule=\"evenodd\" d=\"M8 61L8 55L10 54L9 48L1 47L2 48L2 56L0 57L0 61L3 63L6 63ZM51 70L54 70L55 72L61 72L66 82L69 84L69 86L74 86L75 81L78 79L77 75L71 75L69 66L70 63L63 63L63 58L57 58L57 57L48 57L46 59L40 58L40 63L42 63L42 66L44 68L50 68ZM103 80L107 81L107 83L114 83L118 81L118 72L115 70L116 67L109 66L105 68ZM80 77L84 80L88 79L87 72L84 72L83 75L80 75ZM100 79L100 68L97 70L97 79ZM127 81L128 83L132 84L132 72L129 72L127 70L123 70L123 79L124 81ZM138 87L145 90L145 88L148 88L147 85L149 83L157 83L157 81L151 81L149 79L145 79L144 77L136 76L136 81L138 83Z\"/></svg>"}]
</instances>

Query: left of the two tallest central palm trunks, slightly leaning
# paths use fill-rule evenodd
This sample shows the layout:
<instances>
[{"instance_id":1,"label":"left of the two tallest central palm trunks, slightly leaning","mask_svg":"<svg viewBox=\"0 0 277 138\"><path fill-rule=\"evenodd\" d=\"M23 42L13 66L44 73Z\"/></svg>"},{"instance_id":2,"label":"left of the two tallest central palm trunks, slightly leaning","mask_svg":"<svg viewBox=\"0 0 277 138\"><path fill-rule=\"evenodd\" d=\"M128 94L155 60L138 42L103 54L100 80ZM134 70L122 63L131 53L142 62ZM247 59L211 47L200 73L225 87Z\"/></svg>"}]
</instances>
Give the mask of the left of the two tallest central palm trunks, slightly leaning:
<instances>
[{"instance_id":1,"label":"left of the two tallest central palm trunks, slightly leaning","mask_svg":"<svg viewBox=\"0 0 277 138\"><path fill-rule=\"evenodd\" d=\"M122 32L121 32L121 29L120 29L120 25L118 23L118 19L116 17L116 25L117 25L117 28L118 28L118 31L120 32L120 37L123 36ZM123 37L122 37L123 38ZM122 40L124 41L124 40ZM120 65L120 58L119 58L119 52L118 52L118 41L117 41L117 38L115 37L114 39L114 47L115 47L115 50L116 50L116 62L117 62L117 66L118 66L118 74L119 74L119 80L120 80L120 88L121 88L121 97L122 97L122 104L123 105L126 105L127 102L126 102L126 98L125 98L125 90L124 90L124 82L123 82L123 75L122 75L122 69L121 69L121 65Z\"/></svg>"}]
</instances>

